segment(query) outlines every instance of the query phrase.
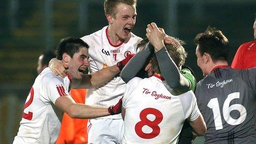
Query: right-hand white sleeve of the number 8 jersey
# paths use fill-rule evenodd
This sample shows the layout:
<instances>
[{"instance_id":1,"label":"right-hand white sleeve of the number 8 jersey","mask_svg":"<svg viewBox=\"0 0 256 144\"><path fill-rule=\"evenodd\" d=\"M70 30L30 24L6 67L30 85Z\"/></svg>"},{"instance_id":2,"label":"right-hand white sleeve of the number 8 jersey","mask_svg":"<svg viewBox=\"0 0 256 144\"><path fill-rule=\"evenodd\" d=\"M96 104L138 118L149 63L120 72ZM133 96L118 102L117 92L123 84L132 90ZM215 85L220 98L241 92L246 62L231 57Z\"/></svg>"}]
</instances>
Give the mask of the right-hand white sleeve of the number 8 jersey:
<instances>
[{"instance_id":1,"label":"right-hand white sleeve of the number 8 jersey","mask_svg":"<svg viewBox=\"0 0 256 144\"><path fill-rule=\"evenodd\" d=\"M185 119L190 121L196 120L200 115L200 111L196 103L195 94L190 90L180 95L180 101L182 102Z\"/></svg>"}]
</instances>

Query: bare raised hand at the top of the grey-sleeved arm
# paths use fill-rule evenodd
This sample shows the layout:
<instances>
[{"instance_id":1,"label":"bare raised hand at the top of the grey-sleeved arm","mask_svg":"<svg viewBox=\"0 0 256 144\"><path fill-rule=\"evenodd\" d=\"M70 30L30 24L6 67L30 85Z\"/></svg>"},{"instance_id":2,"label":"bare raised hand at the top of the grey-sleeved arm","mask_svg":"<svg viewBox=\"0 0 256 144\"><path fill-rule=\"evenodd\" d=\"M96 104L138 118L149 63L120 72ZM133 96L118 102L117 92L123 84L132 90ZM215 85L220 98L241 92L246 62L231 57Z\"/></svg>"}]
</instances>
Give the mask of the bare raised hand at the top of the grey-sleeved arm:
<instances>
[{"instance_id":1,"label":"bare raised hand at the top of the grey-sleeved arm","mask_svg":"<svg viewBox=\"0 0 256 144\"><path fill-rule=\"evenodd\" d=\"M147 38L150 44L154 46L155 51L159 51L164 47L164 29L158 28L156 23L151 23L147 25Z\"/></svg>"}]
</instances>

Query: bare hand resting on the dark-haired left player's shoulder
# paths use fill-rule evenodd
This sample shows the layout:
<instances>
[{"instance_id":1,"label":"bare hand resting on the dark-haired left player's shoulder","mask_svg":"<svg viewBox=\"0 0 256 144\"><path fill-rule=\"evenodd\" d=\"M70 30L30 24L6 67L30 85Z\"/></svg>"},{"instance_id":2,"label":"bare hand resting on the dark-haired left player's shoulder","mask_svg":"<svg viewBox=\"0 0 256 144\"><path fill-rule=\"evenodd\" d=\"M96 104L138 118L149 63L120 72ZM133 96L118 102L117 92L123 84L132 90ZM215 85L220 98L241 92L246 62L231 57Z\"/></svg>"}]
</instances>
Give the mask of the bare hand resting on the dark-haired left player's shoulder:
<instances>
[{"instance_id":1,"label":"bare hand resting on the dark-haired left player's shoulder","mask_svg":"<svg viewBox=\"0 0 256 144\"><path fill-rule=\"evenodd\" d=\"M49 62L49 67L56 76L60 76L62 78L65 78L67 76L68 66L61 60L57 60L57 58L52 58Z\"/></svg>"}]
</instances>

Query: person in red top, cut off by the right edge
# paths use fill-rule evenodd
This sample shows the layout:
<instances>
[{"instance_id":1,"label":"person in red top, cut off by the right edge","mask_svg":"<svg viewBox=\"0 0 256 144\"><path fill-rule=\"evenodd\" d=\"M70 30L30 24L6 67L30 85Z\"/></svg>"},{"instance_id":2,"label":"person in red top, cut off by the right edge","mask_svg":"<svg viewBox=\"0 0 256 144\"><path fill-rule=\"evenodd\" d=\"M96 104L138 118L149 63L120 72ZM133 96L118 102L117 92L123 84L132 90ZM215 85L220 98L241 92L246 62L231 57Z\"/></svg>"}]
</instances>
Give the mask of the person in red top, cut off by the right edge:
<instances>
[{"instance_id":1,"label":"person in red top, cut off by the right edge","mask_svg":"<svg viewBox=\"0 0 256 144\"><path fill-rule=\"evenodd\" d=\"M232 68L247 69L256 67L256 17L254 19L253 31L254 40L238 47L231 64Z\"/></svg>"}]
</instances>

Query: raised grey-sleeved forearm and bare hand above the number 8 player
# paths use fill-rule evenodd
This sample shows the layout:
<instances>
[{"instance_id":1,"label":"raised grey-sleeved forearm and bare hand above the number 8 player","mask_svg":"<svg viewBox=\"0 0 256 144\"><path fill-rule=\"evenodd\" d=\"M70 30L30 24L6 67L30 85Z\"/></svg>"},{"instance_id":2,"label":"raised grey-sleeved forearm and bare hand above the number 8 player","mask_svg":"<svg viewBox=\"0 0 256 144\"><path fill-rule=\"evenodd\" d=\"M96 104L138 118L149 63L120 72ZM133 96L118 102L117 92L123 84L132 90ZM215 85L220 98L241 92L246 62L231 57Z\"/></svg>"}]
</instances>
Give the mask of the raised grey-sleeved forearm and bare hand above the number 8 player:
<instances>
[{"instance_id":1,"label":"raised grey-sleeved forearm and bare hand above the number 8 player","mask_svg":"<svg viewBox=\"0 0 256 144\"><path fill-rule=\"evenodd\" d=\"M163 29L157 28L155 23L148 25L146 35L156 51L156 57L161 75L164 77L164 79L166 79L168 86L174 90L175 94L182 94L187 92L190 86L195 86L195 84L190 84L189 79L179 71L179 68L173 61L172 57L170 57L166 47L164 46L166 42L177 43L177 40L167 36ZM194 81L191 82L194 83ZM191 87L191 89L192 88L193 87Z\"/></svg>"}]
</instances>

